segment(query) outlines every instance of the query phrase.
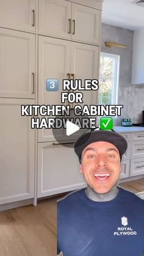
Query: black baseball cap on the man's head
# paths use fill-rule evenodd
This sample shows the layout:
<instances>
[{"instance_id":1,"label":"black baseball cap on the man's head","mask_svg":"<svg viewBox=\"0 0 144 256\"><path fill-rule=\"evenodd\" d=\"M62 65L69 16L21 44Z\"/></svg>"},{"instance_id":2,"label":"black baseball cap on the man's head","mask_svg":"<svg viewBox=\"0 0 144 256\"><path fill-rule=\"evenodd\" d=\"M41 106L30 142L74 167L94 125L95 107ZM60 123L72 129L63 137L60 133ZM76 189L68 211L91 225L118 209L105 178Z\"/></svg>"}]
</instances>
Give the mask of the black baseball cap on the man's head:
<instances>
[{"instance_id":1,"label":"black baseball cap on the man's head","mask_svg":"<svg viewBox=\"0 0 144 256\"><path fill-rule=\"evenodd\" d=\"M74 151L76 152L76 155L78 156L80 162L82 151L84 150L84 148L87 147L89 144L98 141L106 141L115 145L115 147L118 148L118 152L120 153L120 159L122 158L128 147L126 139L119 133L116 133L113 130L99 130L99 128L97 128L94 131L88 131L87 133L82 134L82 136L79 137L79 139L77 139L77 141L75 142Z\"/></svg>"}]
</instances>

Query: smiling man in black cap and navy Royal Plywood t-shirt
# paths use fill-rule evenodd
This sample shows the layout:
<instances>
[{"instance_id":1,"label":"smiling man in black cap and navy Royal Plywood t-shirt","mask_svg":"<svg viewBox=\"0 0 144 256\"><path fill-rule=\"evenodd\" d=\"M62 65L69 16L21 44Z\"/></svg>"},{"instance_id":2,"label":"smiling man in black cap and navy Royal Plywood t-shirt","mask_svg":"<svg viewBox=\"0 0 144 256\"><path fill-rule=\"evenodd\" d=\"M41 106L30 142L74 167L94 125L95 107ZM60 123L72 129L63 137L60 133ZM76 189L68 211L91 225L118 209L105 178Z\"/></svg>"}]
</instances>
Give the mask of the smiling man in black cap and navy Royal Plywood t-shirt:
<instances>
[{"instance_id":1,"label":"smiling man in black cap and navy Royal Plywood t-shirt","mask_svg":"<svg viewBox=\"0 0 144 256\"><path fill-rule=\"evenodd\" d=\"M57 254L144 255L144 201L117 187L126 149L124 137L108 130L85 133L76 141L87 188L57 205Z\"/></svg>"}]
</instances>

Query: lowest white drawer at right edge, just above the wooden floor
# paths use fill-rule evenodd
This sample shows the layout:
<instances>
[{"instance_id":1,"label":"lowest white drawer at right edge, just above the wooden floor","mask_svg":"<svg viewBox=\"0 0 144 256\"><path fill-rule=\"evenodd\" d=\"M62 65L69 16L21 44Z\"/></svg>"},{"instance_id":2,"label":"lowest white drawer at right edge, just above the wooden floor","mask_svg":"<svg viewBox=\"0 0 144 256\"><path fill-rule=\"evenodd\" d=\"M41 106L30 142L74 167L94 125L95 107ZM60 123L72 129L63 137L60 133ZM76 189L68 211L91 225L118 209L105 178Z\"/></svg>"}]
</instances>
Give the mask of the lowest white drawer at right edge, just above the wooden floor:
<instances>
[{"instance_id":1,"label":"lowest white drawer at right edge, just above the wooden floor","mask_svg":"<svg viewBox=\"0 0 144 256\"><path fill-rule=\"evenodd\" d=\"M144 174L144 158L132 159L130 176Z\"/></svg>"}]
</instances>

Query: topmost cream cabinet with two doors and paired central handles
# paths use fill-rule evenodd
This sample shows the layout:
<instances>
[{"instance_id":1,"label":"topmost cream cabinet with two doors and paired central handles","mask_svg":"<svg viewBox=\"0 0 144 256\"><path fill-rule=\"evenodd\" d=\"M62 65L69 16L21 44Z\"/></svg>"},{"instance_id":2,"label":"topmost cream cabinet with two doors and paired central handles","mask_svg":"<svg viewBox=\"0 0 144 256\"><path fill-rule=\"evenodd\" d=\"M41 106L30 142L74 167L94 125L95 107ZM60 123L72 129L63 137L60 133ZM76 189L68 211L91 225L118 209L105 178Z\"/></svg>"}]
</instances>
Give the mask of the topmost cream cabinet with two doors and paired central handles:
<instances>
[{"instance_id":1,"label":"topmost cream cabinet with two doors and paired central handles","mask_svg":"<svg viewBox=\"0 0 144 256\"><path fill-rule=\"evenodd\" d=\"M99 45L99 24L100 10L65 0L38 2L40 34Z\"/></svg>"}]
</instances>

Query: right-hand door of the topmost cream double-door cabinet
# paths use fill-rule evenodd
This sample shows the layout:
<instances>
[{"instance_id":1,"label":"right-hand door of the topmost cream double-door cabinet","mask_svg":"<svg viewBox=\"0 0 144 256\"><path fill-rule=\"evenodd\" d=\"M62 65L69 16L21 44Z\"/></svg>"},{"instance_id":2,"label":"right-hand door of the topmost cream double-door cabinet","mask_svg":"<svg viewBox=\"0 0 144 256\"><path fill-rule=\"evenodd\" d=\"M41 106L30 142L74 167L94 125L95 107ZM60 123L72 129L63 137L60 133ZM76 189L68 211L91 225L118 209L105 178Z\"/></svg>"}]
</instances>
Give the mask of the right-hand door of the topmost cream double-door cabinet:
<instances>
[{"instance_id":1,"label":"right-hand door of the topmost cream double-door cabinet","mask_svg":"<svg viewBox=\"0 0 144 256\"><path fill-rule=\"evenodd\" d=\"M72 4L71 39L99 44L100 11L79 4Z\"/></svg>"}]
</instances>

